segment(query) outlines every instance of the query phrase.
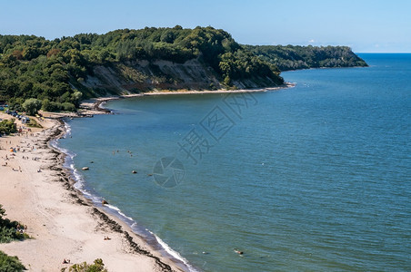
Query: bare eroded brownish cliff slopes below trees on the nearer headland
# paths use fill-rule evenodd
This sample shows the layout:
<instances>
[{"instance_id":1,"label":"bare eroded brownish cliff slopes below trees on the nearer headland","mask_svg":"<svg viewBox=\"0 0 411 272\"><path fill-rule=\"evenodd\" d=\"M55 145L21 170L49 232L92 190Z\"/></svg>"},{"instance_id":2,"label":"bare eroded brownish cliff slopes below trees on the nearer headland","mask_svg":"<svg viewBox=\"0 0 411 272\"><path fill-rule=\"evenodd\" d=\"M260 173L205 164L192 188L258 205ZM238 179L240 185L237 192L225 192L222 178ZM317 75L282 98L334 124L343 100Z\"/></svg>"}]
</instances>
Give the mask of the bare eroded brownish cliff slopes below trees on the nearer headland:
<instances>
[{"instance_id":1,"label":"bare eroded brownish cliff slopes below trees on the nearer headland","mask_svg":"<svg viewBox=\"0 0 411 272\"><path fill-rule=\"evenodd\" d=\"M94 75L87 76L85 87L118 94L151 90L217 90L224 89L216 72L199 60L185 63L168 61L135 61L98 65ZM269 78L256 77L234 82L238 89L276 86Z\"/></svg>"}]
</instances>

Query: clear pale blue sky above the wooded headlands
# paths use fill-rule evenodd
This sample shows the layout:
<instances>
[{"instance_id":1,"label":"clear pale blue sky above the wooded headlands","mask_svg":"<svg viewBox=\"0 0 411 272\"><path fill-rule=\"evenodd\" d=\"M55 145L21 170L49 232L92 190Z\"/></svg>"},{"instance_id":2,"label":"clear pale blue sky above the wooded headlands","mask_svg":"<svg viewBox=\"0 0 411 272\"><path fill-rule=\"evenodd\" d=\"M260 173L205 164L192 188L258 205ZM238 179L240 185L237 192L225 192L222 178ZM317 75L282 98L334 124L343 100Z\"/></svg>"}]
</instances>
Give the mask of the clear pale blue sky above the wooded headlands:
<instances>
[{"instance_id":1,"label":"clear pale blue sky above the wooded headlands","mask_svg":"<svg viewBox=\"0 0 411 272\"><path fill-rule=\"evenodd\" d=\"M176 24L221 28L240 44L411 53L409 0L0 0L0 34L55 39Z\"/></svg>"}]
</instances>

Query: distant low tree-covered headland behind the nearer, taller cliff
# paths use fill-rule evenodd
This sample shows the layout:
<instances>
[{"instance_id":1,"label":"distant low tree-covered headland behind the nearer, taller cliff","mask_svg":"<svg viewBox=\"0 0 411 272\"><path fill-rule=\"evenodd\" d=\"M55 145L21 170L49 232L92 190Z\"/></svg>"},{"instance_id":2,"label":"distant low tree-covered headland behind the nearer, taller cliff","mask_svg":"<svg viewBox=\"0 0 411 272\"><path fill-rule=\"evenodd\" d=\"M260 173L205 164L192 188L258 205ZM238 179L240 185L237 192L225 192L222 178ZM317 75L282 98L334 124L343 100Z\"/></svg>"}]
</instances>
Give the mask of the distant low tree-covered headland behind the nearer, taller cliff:
<instances>
[{"instance_id":1,"label":"distant low tree-covered headland behind the nearer, taller cliff","mask_svg":"<svg viewBox=\"0 0 411 272\"><path fill-rule=\"evenodd\" d=\"M244 45L244 48L281 71L367 66L348 46Z\"/></svg>"}]
</instances>

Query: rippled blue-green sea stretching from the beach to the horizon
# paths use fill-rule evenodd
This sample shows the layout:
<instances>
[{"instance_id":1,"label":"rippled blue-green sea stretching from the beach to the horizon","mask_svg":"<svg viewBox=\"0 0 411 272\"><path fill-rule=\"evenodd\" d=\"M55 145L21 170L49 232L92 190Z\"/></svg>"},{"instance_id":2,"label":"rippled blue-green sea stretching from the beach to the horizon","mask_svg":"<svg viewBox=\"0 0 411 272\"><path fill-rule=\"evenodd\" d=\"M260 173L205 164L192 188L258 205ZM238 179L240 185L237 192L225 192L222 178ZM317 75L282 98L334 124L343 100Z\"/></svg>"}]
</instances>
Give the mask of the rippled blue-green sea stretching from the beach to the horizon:
<instances>
[{"instance_id":1,"label":"rippled blue-green sea stretching from the beach to the horizon","mask_svg":"<svg viewBox=\"0 0 411 272\"><path fill-rule=\"evenodd\" d=\"M296 87L278 92L109 102L59 145L195 269L409 270L411 54L361 56L282 73Z\"/></svg>"}]
</instances>

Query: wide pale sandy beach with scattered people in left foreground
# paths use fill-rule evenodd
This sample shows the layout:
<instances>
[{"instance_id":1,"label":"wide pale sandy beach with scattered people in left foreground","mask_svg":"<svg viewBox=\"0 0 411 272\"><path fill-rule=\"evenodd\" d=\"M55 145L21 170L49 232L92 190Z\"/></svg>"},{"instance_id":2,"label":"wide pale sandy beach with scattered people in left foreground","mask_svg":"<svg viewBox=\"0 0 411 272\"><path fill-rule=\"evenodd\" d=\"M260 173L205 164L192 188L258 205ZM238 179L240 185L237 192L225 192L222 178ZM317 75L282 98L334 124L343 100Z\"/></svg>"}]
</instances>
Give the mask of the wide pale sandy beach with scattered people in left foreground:
<instances>
[{"instance_id":1,"label":"wide pale sandy beach with scattered people in left foreground","mask_svg":"<svg viewBox=\"0 0 411 272\"><path fill-rule=\"evenodd\" d=\"M8 118L0 112L0 119ZM62 169L63 155L48 146L62 124L38 122L43 129L0 138L0 203L6 217L26 225L31 237L0 244L0 250L19 257L29 271L60 271L70 266L64 259L75 264L95 258L102 258L108 271L181 270L73 188Z\"/></svg>"}]
</instances>

